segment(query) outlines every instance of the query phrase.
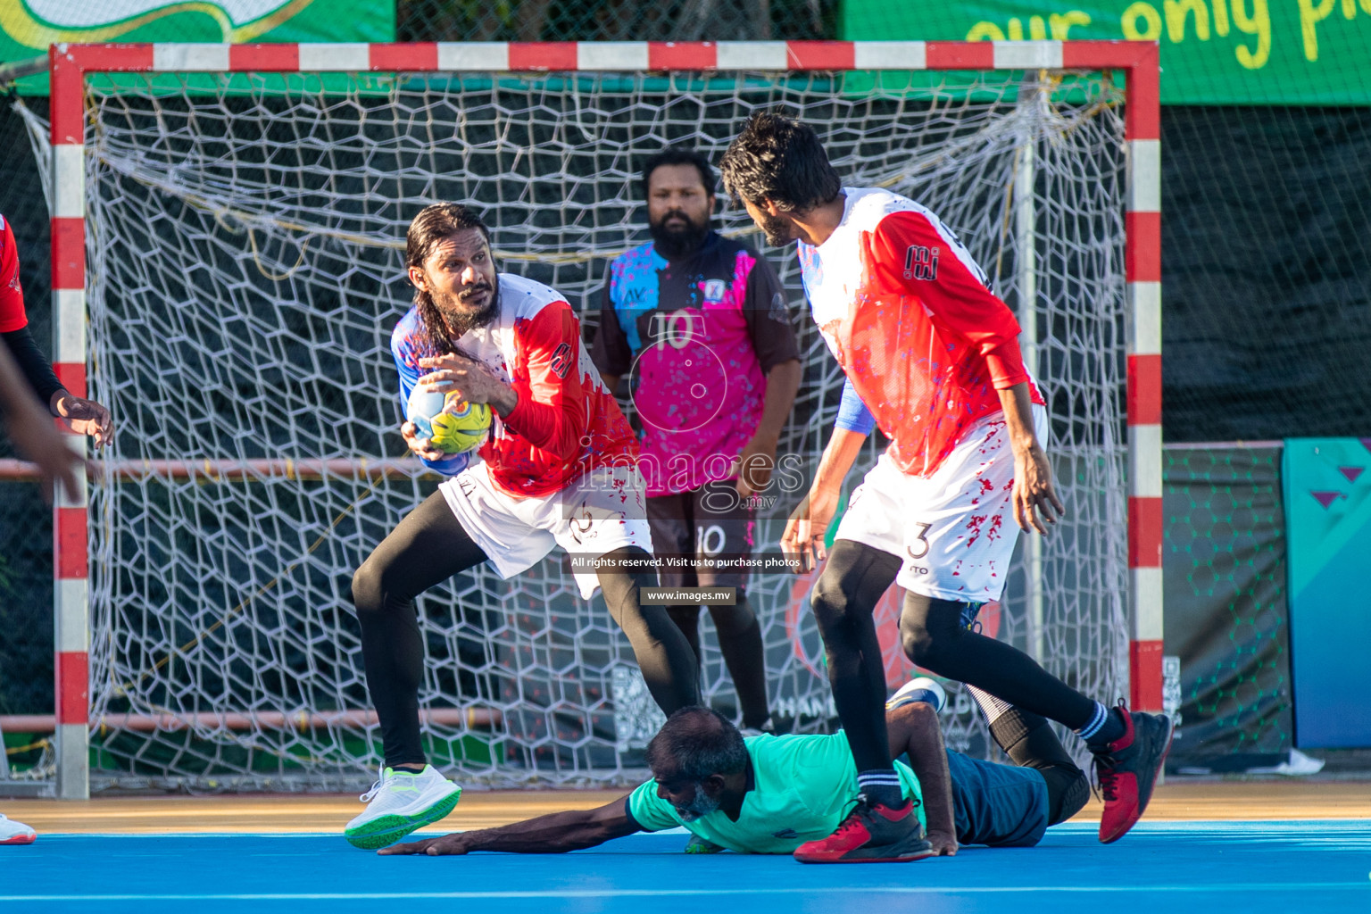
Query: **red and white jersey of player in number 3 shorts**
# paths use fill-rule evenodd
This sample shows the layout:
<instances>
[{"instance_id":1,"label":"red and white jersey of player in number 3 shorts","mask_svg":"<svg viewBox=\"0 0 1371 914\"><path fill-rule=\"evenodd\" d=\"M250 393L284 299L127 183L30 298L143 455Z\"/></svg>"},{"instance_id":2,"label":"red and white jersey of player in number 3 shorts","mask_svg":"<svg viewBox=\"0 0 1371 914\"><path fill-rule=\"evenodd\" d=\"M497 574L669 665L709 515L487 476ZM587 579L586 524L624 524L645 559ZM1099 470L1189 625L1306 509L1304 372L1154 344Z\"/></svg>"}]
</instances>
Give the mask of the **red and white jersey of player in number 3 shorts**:
<instances>
[{"instance_id":1,"label":"red and white jersey of player in number 3 shorts","mask_svg":"<svg viewBox=\"0 0 1371 914\"><path fill-rule=\"evenodd\" d=\"M1002 411L999 391L1027 385L1031 403L1045 400L1024 370L1019 322L938 217L890 190L843 196L828 240L798 245L805 293L849 396L890 429L891 462L928 478L969 428Z\"/></svg>"}]
</instances>

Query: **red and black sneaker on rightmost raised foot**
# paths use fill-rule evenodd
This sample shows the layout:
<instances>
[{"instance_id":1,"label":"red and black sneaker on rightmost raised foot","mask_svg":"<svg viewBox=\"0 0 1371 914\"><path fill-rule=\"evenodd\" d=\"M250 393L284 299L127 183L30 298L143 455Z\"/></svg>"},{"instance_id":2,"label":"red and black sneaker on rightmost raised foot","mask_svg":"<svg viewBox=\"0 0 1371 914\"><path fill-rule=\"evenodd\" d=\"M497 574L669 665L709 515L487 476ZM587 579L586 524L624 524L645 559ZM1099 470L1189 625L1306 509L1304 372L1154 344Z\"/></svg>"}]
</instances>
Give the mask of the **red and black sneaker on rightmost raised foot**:
<instances>
[{"instance_id":1,"label":"red and black sneaker on rightmost raised foot","mask_svg":"<svg viewBox=\"0 0 1371 914\"><path fill-rule=\"evenodd\" d=\"M1124 732L1095 755L1095 777L1105 798L1100 817L1100 841L1111 844L1128 833L1142 818L1152 799L1157 773L1171 748L1171 718L1164 714L1128 711L1119 702Z\"/></svg>"}]
</instances>

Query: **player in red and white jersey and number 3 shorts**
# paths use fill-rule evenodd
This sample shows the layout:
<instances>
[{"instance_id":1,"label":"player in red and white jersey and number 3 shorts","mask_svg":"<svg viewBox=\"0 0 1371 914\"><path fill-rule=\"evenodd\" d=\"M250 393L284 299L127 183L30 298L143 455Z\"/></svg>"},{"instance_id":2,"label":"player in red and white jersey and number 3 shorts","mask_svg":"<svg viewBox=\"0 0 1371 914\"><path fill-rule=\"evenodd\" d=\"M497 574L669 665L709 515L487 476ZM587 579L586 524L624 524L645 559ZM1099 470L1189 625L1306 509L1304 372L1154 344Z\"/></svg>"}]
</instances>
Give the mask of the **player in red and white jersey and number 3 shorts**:
<instances>
[{"instance_id":1,"label":"player in red and white jersey and number 3 shorts","mask_svg":"<svg viewBox=\"0 0 1371 914\"><path fill-rule=\"evenodd\" d=\"M810 604L861 798L843 828L795 856L908 859L902 848L919 829L886 761L872 613L893 582L905 589L905 652L973 687L1006 751L1021 734L997 732L1004 702L1086 740L1105 795L1100 839L1117 840L1150 799L1169 721L1106 708L972 630L980 606L1004 589L1017 537L1010 521L1046 533L1064 510L1041 445L1043 397L1024 370L1013 314L936 215L888 190L843 188L806 125L754 114L720 170L768 241L799 243L814 322L847 375L836 428L781 547L827 558ZM890 449L853 492L825 556L843 477L873 425Z\"/></svg>"}]
</instances>

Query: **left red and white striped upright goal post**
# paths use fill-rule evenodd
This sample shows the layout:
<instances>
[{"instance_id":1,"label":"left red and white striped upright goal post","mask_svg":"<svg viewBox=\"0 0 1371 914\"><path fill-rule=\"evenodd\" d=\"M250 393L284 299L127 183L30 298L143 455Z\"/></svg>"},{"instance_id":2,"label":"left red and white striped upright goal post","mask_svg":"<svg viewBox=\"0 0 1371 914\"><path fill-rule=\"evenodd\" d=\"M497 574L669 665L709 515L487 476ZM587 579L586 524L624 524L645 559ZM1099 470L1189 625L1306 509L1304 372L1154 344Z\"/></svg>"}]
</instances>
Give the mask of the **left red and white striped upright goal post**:
<instances>
[{"instance_id":1,"label":"left red and white striped upright goal post","mask_svg":"<svg viewBox=\"0 0 1371 914\"><path fill-rule=\"evenodd\" d=\"M81 66L55 45L52 75L52 338L62 385L86 395L85 164ZM85 436L70 444L85 454ZM90 626L86 581L86 478L58 492L52 508L53 641L56 699L56 795L90 796Z\"/></svg>"}]
</instances>

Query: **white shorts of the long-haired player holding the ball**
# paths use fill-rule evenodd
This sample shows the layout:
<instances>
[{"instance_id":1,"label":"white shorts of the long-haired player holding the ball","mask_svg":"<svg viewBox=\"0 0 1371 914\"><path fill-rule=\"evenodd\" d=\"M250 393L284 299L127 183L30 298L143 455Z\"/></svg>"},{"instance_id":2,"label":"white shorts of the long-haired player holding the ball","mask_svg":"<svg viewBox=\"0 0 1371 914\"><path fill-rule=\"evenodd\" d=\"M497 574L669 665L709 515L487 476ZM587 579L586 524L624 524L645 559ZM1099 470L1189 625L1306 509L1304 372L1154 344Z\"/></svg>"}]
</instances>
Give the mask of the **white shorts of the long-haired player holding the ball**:
<instances>
[{"instance_id":1,"label":"white shorts of the long-haired player holding the ball","mask_svg":"<svg viewBox=\"0 0 1371 914\"><path fill-rule=\"evenodd\" d=\"M636 545L653 554L647 525L647 486L636 466L598 467L561 492L517 499L477 463L437 486L462 529L505 580L531 569L553 547L598 558ZM595 571L577 571L587 600L599 586Z\"/></svg>"}]
</instances>

